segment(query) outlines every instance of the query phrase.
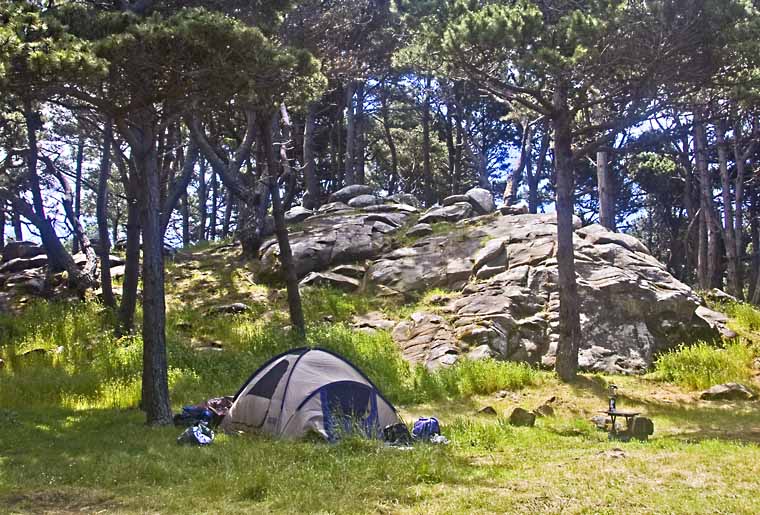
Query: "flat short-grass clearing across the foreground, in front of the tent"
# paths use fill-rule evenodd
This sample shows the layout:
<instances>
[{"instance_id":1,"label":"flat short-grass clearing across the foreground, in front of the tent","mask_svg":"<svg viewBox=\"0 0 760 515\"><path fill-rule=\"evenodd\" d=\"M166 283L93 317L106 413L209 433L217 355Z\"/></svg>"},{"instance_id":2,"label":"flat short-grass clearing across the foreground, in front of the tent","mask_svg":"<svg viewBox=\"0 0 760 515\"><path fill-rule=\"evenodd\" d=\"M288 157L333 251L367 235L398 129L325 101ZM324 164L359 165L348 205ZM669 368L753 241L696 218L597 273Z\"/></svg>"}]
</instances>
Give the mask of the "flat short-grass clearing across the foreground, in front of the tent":
<instances>
[{"instance_id":1,"label":"flat short-grass clearing across the foreground, in front of the tent","mask_svg":"<svg viewBox=\"0 0 760 515\"><path fill-rule=\"evenodd\" d=\"M588 422L609 378L402 409L436 414L449 446L411 451L220 435L180 447L134 409L2 411L0 503L10 513L760 512L760 409L615 377L621 402L655 420L648 443L608 442ZM506 423L555 396L557 416ZM497 416L473 415L491 405Z\"/></svg>"}]
</instances>

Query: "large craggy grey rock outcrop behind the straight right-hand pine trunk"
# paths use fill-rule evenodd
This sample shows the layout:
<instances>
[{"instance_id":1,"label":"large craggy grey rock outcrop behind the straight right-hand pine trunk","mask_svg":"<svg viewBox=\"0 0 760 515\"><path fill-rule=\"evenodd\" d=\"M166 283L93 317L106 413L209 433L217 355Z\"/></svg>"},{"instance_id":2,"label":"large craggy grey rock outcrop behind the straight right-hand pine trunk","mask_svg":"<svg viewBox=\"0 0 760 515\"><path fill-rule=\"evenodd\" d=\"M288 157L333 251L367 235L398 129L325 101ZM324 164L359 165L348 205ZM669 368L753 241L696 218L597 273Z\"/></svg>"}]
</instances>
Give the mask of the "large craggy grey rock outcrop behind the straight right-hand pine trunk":
<instances>
[{"instance_id":1,"label":"large craggy grey rock outcrop behind the straight right-hand pine trunk","mask_svg":"<svg viewBox=\"0 0 760 515\"><path fill-rule=\"evenodd\" d=\"M578 219L574 228L582 369L641 373L662 350L717 337L697 314L697 295L638 240L600 226L581 229ZM487 346L500 359L551 367L559 341L556 231L554 214L468 220L383 254L365 280L407 298L435 287L457 291L435 324L436 341L452 355L447 361ZM404 322L406 332L394 338L408 358L430 366L435 357L419 349L431 340L415 332L432 332L426 315L433 316Z\"/></svg>"}]
</instances>

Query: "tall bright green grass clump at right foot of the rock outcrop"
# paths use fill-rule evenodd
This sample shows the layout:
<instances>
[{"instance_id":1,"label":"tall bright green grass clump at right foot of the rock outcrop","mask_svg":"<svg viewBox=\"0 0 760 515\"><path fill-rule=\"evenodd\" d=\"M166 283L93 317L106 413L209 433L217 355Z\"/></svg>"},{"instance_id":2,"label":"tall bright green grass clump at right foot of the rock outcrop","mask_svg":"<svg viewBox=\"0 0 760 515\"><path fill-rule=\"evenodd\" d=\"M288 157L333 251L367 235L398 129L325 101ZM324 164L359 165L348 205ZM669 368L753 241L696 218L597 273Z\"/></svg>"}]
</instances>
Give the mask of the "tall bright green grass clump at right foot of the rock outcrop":
<instances>
[{"instance_id":1,"label":"tall bright green grass clump at right foot of the rock outcrop","mask_svg":"<svg viewBox=\"0 0 760 515\"><path fill-rule=\"evenodd\" d=\"M721 348L698 342L662 354L655 364L654 376L699 390L721 383L748 381L752 359L752 349L743 343L730 343Z\"/></svg>"}]
</instances>

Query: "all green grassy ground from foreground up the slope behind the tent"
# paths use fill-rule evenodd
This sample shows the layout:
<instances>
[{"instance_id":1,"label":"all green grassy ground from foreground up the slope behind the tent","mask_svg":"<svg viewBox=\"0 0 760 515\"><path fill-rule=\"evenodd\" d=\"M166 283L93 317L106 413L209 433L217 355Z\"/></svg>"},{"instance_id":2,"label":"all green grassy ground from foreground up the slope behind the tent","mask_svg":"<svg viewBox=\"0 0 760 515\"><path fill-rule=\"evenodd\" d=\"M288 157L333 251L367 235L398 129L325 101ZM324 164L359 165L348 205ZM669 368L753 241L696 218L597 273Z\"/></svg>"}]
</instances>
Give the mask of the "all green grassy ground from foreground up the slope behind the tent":
<instances>
[{"instance_id":1,"label":"all green grassy ground from foreground up the slope behind the tent","mask_svg":"<svg viewBox=\"0 0 760 515\"><path fill-rule=\"evenodd\" d=\"M289 345L278 329L286 323L282 295L254 284L231 251L204 249L169 277L176 407L229 393L273 349ZM205 314L222 301L254 310ZM110 337L97 306L40 306L0 320L8 362L0 371L0 512L760 512L760 402L698 401L655 376L590 375L568 386L550 373L495 364L424 374L398 360L387 336L335 324L355 311L397 307L330 291L306 303L312 343L351 354L407 420L437 415L451 445L403 451L220 435L209 448L179 447L179 430L145 427L134 407L139 341ZM317 325L326 316L330 323ZM742 317L743 334L754 337L757 328ZM225 350L191 349L209 342ZM59 354L17 356L57 345ZM608 381L620 386L622 406L654 419L649 443L608 442L587 422L603 408ZM512 388L505 397L492 393L505 386ZM551 396L556 417L532 429L505 423L514 406ZM473 415L485 405L500 416Z\"/></svg>"}]
</instances>

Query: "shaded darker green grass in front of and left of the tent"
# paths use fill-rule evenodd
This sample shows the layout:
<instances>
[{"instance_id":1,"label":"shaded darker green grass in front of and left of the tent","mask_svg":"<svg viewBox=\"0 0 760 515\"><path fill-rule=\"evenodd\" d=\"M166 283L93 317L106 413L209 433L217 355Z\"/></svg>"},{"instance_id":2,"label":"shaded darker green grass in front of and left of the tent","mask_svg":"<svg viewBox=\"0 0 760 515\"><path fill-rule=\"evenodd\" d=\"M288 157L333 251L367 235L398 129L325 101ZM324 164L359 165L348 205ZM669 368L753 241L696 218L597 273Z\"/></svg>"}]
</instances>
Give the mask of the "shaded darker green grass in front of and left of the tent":
<instances>
[{"instance_id":1,"label":"shaded darker green grass in front of and left of the tent","mask_svg":"<svg viewBox=\"0 0 760 515\"><path fill-rule=\"evenodd\" d=\"M356 513L414 505L415 485L470 484L467 460L442 447L253 435L185 447L175 443L180 428L147 427L138 410L19 410L15 420L0 427L0 503L32 513L51 500L85 511L107 504L176 513L186 510L188 492L216 513Z\"/></svg>"}]
</instances>

